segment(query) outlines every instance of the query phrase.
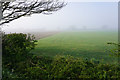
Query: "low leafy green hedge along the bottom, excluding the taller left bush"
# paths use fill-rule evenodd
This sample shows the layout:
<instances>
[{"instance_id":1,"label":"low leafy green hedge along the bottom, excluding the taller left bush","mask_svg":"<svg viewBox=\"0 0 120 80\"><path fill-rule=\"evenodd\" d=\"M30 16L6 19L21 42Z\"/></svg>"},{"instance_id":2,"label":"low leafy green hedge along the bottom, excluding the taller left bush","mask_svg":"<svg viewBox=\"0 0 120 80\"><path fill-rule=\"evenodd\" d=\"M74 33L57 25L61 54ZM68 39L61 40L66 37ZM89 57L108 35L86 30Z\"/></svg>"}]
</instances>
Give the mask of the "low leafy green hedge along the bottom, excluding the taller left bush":
<instances>
[{"instance_id":1,"label":"low leafy green hedge along the bottom, excluding the taller left bush","mask_svg":"<svg viewBox=\"0 0 120 80\"><path fill-rule=\"evenodd\" d=\"M35 60L37 59L37 60ZM34 62L37 61L37 62ZM118 79L120 66L94 63L72 56L34 58L33 67L26 68L25 76L36 80ZM43 61L43 62L42 62ZM45 61L45 62L44 62Z\"/></svg>"}]
</instances>

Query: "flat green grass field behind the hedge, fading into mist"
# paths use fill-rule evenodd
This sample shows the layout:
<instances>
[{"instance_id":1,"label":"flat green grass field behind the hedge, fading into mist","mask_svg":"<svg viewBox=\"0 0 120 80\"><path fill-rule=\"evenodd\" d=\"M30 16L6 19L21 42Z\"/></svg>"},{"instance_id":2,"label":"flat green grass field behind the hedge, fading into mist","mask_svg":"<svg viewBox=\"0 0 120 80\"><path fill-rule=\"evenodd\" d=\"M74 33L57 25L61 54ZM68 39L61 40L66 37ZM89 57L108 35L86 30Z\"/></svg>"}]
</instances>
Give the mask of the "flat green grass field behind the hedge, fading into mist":
<instances>
[{"instance_id":1,"label":"flat green grass field behind the hedge, fading into mist","mask_svg":"<svg viewBox=\"0 0 120 80\"><path fill-rule=\"evenodd\" d=\"M117 32L61 32L38 40L33 53L49 57L71 55L85 59L104 59L103 62L114 63L117 58L109 56L114 46L108 45L107 42L117 42L117 37Z\"/></svg>"}]
</instances>

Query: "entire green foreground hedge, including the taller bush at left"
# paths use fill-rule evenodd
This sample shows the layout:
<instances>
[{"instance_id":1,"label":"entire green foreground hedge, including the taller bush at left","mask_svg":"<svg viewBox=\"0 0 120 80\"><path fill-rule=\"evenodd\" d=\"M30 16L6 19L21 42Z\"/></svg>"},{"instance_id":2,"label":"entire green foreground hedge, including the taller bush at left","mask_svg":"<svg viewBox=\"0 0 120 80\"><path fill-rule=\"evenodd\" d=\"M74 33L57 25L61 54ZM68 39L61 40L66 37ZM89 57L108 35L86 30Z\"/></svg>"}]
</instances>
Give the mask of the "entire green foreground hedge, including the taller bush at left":
<instances>
[{"instance_id":1,"label":"entire green foreground hedge, including the taller bush at left","mask_svg":"<svg viewBox=\"0 0 120 80\"><path fill-rule=\"evenodd\" d=\"M4 34L3 80L111 80L118 79L120 66L102 64L72 56L54 58L35 56L35 37L26 34Z\"/></svg>"}]
</instances>

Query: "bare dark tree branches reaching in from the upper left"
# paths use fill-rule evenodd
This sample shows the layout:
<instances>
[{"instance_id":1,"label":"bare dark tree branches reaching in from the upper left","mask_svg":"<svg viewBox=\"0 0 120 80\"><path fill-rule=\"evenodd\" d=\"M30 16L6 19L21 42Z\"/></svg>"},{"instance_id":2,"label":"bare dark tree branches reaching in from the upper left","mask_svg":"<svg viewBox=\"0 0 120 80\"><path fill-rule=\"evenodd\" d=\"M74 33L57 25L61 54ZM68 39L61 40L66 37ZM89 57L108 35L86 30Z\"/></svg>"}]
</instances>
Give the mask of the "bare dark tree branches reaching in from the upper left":
<instances>
[{"instance_id":1,"label":"bare dark tree branches reaching in from the upper left","mask_svg":"<svg viewBox=\"0 0 120 80\"><path fill-rule=\"evenodd\" d=\"M2 2L2 21L0 25L9 23L22 16L32 14L52 14L63 8L66 3L59 0L15 0L13 2Z\"/></svg>"}]
</instances>

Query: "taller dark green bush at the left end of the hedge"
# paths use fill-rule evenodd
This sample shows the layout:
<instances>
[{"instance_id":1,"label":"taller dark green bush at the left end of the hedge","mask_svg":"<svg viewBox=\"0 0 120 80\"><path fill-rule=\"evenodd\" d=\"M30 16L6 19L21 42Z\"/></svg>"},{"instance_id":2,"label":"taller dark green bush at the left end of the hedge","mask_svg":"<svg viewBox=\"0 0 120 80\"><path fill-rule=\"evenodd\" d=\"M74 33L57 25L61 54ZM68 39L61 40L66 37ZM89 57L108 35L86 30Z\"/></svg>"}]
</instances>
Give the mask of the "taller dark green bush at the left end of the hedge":
<instances>
[{"instance_id":1,"label":"taller dark green bush at the left end of the hedge","mask_svg":"<svg viewBox=\"0 0 120 80\"><path fill-rule=\"evenodd\" d=\"M3 66L11 70L22 66L18 65L19 62L30 58L30 51L35 48L35 42L35 37L30 34L3 34Z\"/></svg>"}]
</instances>

